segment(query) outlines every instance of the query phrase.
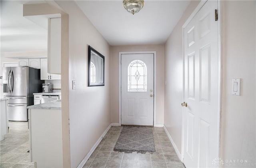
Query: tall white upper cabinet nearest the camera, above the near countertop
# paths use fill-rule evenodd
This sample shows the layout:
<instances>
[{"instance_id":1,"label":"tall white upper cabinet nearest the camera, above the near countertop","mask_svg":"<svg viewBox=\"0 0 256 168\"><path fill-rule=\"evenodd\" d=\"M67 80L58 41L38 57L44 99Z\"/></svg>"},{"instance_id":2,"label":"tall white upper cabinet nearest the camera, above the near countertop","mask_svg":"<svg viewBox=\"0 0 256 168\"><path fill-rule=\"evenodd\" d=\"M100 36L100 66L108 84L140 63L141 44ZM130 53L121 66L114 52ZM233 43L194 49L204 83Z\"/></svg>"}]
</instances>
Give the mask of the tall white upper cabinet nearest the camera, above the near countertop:
<instances>
[{"instance_id":1,"label":"tall white upper cabinet nearest the camera, above the near countertop","mask_svg":"<svg viewBox=\"0 0 256 168\"><path fill-rule=\"evenodd\" d=\"M48 73L61 74L61 18L48 19Z\"/></svg>"}]
</instances>

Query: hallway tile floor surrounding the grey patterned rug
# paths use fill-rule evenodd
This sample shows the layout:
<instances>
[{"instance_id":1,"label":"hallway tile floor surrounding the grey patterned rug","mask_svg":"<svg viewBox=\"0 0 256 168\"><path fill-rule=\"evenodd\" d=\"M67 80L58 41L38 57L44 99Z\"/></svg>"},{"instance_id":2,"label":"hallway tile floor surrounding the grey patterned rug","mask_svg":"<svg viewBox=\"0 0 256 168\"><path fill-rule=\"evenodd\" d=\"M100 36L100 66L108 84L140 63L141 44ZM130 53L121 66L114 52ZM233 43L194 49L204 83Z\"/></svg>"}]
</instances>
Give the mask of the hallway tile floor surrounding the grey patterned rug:
<instances>
[{"instance_id":1,"label":"hallway tile floor surrounding the grey patterned rug","mask_svg":"<svg viewBox=\"0 0 256 168\"><path fill-rule=\"evenodd\" d=\"M152 128L156 154L114 152L121 131L122 126L112 126L84 168L185 168L164 128Z\"/></svg>"}]
</instances>

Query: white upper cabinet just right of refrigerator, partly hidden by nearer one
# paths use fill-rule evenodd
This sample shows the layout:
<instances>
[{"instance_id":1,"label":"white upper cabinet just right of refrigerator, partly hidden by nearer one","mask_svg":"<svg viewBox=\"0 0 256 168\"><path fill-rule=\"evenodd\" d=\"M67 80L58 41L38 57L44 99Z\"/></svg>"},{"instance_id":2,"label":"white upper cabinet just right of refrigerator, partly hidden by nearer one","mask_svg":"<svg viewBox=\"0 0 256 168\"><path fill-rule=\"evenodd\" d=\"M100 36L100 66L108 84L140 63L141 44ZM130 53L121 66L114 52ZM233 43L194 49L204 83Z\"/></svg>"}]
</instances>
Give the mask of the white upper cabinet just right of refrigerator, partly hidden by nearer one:
<instances>
[{"instance_id":1,"label":"white upper cabinet just right of refrigerator, partly hidden by nearer one","mask_svg":"<svg viewBox=\"0 0 256 168\"><path fill-rule=\"evenodd\" d=\"M41 80L60 80L61 75L58 74L49 74L47 72L48 68L48 60L47 58L40 59L40 66L41 66Z\"/></svg>"}]
</instances>

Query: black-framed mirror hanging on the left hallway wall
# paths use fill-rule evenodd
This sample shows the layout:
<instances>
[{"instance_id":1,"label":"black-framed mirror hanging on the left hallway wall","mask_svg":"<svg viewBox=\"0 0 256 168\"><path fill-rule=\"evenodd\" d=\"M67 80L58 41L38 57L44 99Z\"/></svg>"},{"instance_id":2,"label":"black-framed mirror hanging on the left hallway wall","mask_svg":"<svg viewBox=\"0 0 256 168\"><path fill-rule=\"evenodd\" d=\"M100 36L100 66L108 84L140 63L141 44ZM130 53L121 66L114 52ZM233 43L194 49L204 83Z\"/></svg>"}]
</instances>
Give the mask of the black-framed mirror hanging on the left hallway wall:
<instances>
[{"instance_id":1,"label":"black-framed mirror hanging on the left hallway wall","mask_svg":"<svg viewBox=\"0 0 256 168\"><path fill-rule=\"evenodd\" d=\"M104 86L105 57L88 46L88 86Z\"/></svg>"}]
</instances>

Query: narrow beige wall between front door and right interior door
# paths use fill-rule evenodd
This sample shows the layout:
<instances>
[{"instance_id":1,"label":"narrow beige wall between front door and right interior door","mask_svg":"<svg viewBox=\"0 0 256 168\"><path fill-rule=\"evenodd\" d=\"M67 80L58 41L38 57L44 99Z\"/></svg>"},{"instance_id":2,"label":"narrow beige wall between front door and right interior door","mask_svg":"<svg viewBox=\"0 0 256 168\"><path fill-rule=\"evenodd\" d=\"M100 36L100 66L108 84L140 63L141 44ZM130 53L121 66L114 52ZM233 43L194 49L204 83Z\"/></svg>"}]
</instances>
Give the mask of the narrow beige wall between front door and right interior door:
<instances>
[{"instance_id":1,"label":"narrow beige wall between front door and right interior door","mask_svg":"<svg viewBox=\"0 0 256 168\"><path fill-rule=\"evenodd\" d=\"M165 43L164 125L181 153L182 146L182 26L194 11L199 1L191 1Z\"/></svg>"}]
</instances>

